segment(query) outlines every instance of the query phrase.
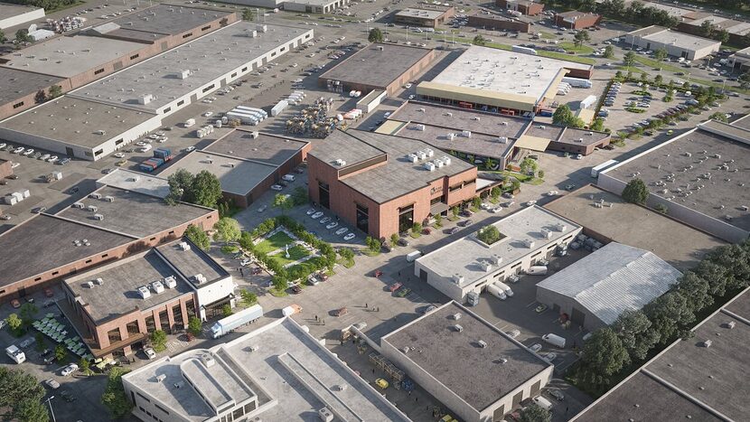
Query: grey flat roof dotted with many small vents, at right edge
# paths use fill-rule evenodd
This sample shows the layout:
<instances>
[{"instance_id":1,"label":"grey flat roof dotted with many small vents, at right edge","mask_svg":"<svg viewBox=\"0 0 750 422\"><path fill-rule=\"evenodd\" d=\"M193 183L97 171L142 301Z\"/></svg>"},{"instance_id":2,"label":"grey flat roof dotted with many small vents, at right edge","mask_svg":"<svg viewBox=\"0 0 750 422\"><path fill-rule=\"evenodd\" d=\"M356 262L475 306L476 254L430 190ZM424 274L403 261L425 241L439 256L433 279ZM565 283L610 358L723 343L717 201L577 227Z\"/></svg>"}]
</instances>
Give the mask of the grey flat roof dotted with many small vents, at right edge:
<instances>
[{"instance_id":1,"label":"grey flat roof dotted with many small vents, at right edge","mask_svg":"<svg viewBox=\"0 0 750 422\"><path fill-rule=\"evenodd\" d=\"M749 159L750 144L696 129L605 173L625 183L638 173L653 194L750 231L750 212L741 209L750 206ZM723 164L728 170L720 169ZM710 180L701 177L707 173L711 173ZM674 183L662 186L670 174ZM688 197L685 192L690 192Z\"/></svg>"}]
</instances>

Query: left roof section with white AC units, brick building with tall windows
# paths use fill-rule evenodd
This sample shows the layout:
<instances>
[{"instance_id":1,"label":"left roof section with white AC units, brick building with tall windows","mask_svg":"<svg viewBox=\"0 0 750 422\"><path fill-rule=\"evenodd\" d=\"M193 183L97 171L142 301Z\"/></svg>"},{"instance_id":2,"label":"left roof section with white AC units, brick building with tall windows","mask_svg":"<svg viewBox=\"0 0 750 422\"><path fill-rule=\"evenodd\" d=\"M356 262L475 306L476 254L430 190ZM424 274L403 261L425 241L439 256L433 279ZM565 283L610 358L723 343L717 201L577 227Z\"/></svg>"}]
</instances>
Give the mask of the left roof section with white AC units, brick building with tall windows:
<instances>
[{"instance_id":1,"label":"left roof section with white AC units, brick building with tall windows","mask_svg":"<svg viewBox=\"0 0 750 422\"><path fill-rule=\"evenodd\" d=\"M171 302L181 295L192 294L192 288L181 277L175 277L177 286L167 288L156 294L151 290L151 296L144 299L138 293L138 287L148 286L154 281L162 281L164 277L177 276L164 258L154 250L118 259L117 261L98 267L83 274L65 279L73 295L80 296L95 324L127 314L135 309L146 309ZM89 281L101 278L103 284L95 283L89 288Z\"/></svg>"}]
</instances>

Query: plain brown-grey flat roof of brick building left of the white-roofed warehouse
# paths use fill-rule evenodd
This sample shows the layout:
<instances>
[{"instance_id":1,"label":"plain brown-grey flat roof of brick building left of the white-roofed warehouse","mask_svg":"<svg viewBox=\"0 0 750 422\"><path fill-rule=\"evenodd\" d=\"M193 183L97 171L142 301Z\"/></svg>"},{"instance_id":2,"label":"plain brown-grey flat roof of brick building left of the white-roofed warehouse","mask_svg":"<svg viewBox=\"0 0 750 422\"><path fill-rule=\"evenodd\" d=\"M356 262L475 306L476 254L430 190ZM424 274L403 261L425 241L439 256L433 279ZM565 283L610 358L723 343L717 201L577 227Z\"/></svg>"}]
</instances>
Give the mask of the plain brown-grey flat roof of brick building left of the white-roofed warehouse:
<instances>
[{"instance_id":1,"label":"plain brown-grey flat roof of brick building left of the white-roofed warehouse","mask_svg":"<svg viewBox=\"0 0 750 422\"><path fill-rule=\"evenodd\" d=\"M385 89L431 52L430 49L401 44L370 44L327 70L320 78ZM395 57L398 60L393 60Z\"/></svg>"}]
</instances>

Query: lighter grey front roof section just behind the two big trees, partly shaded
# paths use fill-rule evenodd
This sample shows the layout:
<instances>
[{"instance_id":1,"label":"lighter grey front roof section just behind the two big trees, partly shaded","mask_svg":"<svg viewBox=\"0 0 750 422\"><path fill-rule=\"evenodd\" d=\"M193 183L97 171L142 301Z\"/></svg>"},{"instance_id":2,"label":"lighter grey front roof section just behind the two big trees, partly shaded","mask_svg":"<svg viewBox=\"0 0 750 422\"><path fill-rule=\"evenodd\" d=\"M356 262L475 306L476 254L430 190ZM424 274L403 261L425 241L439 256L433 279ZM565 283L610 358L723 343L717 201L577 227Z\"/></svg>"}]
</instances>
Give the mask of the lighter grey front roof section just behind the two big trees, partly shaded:
<instances>
[{"instance_id":1,"label":"lighter grey front roof section just behind the two big trees, partly shaded","mask_svg":"<svg viewBox=\"0 0 750 422\"><path fill-rule=\"evenodd\" d=\"M193 151L183 156L177 163L167 167L159 175L169 177L179 169L185 169L193 174L206 170L219 178L222 191L247 195L258 183L276 172L277 166L216 155L206 151Z\"/></svg>"}]
</instances>

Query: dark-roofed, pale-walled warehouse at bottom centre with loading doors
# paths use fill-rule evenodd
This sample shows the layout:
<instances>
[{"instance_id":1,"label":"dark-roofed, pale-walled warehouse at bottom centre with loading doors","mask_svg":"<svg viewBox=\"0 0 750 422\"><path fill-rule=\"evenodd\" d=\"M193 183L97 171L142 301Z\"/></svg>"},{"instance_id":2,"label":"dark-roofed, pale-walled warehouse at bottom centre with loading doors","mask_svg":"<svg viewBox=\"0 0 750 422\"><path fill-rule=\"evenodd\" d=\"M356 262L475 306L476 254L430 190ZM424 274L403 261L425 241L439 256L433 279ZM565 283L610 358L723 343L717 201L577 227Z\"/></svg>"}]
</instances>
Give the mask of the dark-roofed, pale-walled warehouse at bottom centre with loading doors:
<instances>
[{"instance_id":1,"label":"dark-roofed, pale-walled warehouse at bottom centre with loading doors","mask_svg":"<svg viewBox=\"0 0 750 422\"><path fill-rule=\"evenodd\" d=\"M383 355L466 422L500 421L539 395L553 366L449 302L380 340Z\"/></svg>"}]
</instances>

